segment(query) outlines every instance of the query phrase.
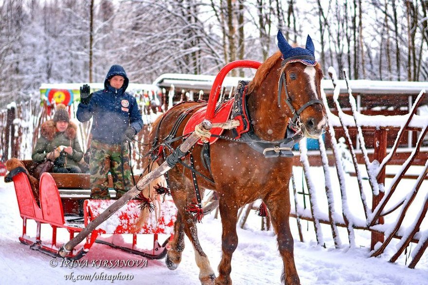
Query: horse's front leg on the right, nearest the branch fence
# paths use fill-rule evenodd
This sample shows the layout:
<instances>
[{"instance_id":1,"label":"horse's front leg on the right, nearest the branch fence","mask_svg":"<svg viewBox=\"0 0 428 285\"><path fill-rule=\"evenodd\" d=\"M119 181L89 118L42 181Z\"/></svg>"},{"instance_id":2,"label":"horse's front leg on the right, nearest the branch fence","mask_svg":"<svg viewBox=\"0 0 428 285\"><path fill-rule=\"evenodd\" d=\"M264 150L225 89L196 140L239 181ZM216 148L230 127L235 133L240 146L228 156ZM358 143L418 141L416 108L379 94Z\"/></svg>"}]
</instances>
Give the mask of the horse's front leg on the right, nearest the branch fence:
<instances>
[{"instance_id":1,"label":"horse's front leg on the right, nearest the branch fence","mask_svg":"<svg viewBox=\"0 0 428 285\"><path fill-rule=\"evenodd\" d=\"M270 211L272 225L277 235L278 250L283 258L284 271L281 281L287 285L299 285L300 279L294 264L294 240L289 224L290 201L286 197L288 191L283 191L283 193L281 195L272 195L265 202Z\"/></svg>"}]
</instances>

